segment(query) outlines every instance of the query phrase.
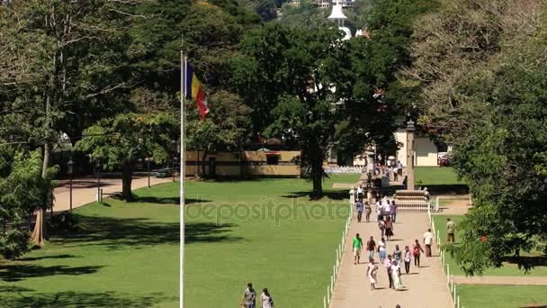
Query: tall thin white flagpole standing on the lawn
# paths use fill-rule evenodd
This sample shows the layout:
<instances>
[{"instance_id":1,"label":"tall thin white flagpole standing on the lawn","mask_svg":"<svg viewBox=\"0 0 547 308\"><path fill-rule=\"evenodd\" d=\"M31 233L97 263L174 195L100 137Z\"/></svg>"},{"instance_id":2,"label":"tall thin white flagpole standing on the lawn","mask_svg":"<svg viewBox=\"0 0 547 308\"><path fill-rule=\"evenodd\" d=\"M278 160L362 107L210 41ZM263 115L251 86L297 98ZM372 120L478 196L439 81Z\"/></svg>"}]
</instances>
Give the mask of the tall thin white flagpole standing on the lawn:
<instances>
[{"instance_id":1,"label":"tall thin white flagpole standing on the lawn","mask_svg":"<svg viewBox=\"0 0 547 308\"><path fill-rule=\"evenodd\" d=\"M181 171L180 171L180 308L184 308L184 166L186 161L185 156L185 130L184 120L186 120L186 104L184 102L184 96L186 93L186 57L184 57L184 51L181 50Z\"/></svg>"}]
</instances>

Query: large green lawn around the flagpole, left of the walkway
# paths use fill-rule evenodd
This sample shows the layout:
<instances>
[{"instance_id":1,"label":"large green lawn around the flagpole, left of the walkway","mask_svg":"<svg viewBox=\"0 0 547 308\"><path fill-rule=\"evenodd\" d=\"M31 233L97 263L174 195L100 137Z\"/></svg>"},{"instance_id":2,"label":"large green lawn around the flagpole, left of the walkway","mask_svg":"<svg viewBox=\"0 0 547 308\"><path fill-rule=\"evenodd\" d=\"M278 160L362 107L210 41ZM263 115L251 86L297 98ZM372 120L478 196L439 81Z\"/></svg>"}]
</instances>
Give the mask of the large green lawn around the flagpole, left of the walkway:
<instances>
[{"instance_id":1,"label":"large green lawn around the flagpole, left of the walkway","mask_svg":"<svg viewBox=\"0 0 547 308\"><path fill-rule=\"evenodd\" d=\"M252 281L276 306L318 307L348 208L328 187L358 177L332 176L315 202L301 179L187 183L185 304L237 306ZM80 231L0 261L0 306L177 307L178 184L135 193L75 210Z\"/></svg>"}]
</instances>

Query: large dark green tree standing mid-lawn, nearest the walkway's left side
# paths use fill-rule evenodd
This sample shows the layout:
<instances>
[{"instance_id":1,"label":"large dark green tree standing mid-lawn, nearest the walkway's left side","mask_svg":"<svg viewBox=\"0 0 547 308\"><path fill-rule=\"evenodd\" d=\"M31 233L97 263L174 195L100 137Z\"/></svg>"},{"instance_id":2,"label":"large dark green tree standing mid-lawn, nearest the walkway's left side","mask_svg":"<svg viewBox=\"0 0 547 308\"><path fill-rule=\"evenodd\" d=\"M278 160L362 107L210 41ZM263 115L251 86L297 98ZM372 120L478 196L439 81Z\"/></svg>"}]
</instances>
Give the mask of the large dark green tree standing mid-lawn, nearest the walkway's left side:
<instances>
[{"instance_id":1,"label":"large dark green tree standing mid-lawn, nearest the walkway's left side","mask_svg":"<svg viewBox=\"0 0 547 308\"><path fill-rule=\"evenodd\" d=\"M332 28L266 24L242 43L233 81L254 109L256 132L301 149L314 197L322 195L323 160L341 113L332 88L339 80L341 34Z\"/></svg>"}]
</instances>

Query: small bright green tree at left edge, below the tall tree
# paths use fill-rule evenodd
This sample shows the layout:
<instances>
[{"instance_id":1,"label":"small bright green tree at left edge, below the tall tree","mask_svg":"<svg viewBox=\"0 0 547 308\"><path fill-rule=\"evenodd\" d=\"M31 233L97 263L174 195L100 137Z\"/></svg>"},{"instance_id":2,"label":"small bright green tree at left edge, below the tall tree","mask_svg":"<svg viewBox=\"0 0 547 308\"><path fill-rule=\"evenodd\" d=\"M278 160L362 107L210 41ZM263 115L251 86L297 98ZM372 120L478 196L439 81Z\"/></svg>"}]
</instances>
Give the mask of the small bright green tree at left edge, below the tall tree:
<instances>
[{"instance_id":1,"label":"small bright green tree at left edge, below the tall tree","mask_svg":"<svg viewBox=\"0 0 547 308\"><path fill-rule=\"evenodd\" d=\"M29 249L30 234L22 230L22 219L49 208L56 169L49 168L42 177L40 150L18 152L10 160L9 170L4 170L7 175L0 176L0 219L4 227L11 224L11 230L0 236L0 255L12 259Z\"/></svg>"}]
</instances>

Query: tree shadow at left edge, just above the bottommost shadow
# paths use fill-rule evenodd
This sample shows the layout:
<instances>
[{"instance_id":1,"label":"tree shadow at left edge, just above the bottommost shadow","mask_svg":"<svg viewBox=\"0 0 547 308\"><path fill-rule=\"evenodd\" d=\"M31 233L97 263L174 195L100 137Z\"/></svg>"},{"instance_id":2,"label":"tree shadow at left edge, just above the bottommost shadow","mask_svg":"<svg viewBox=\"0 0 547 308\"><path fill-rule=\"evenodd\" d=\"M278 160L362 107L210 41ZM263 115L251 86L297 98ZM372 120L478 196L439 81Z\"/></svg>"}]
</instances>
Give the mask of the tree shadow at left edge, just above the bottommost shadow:
<instances>
[{"instance_id":1,"label":"tree shadow at left edge, just above the bottommost shadow","mask_svg":"<svg viewBox=\"0 0 547 308\"><path fill-rule=\"evenodd\" d=\"M102 267L65 267L65 266L52 266L41 267L31 264L21 264L13 262L8 265L4 265L0 268L0 280L7 282L21 281L27 278L41 277L41 276L55 276L55 275L69 275L78 276L85 274L93 274Z\"/></svg>"}]
</instances>

